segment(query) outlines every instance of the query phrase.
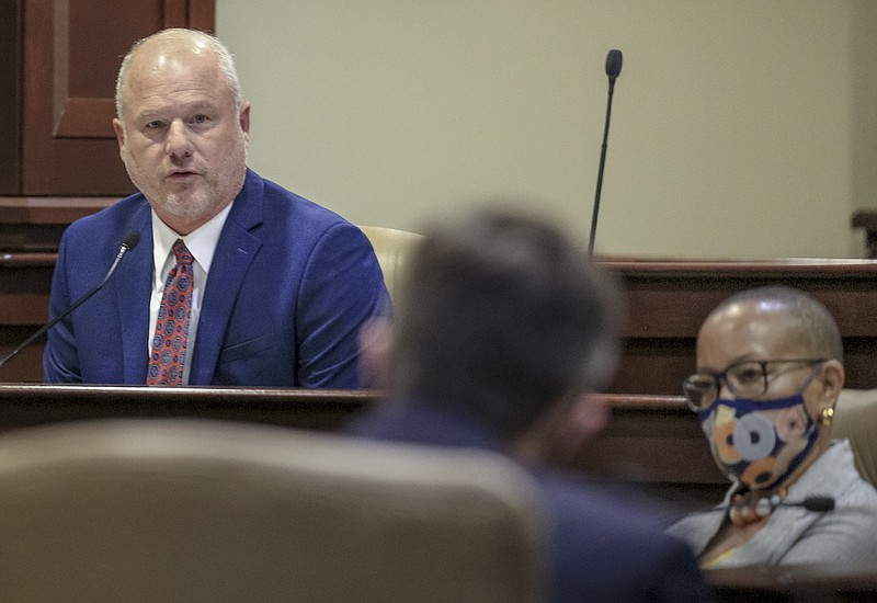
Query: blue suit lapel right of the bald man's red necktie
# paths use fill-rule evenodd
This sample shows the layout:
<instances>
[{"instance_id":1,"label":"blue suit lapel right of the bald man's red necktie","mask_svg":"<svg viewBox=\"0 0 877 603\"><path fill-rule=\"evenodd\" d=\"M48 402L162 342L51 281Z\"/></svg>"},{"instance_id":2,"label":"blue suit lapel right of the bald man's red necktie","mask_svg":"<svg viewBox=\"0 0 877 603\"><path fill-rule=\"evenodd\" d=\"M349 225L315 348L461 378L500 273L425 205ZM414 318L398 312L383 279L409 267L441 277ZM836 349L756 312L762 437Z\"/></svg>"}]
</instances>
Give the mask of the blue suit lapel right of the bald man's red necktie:
<instances>
[{"instance_id":1,"label":"blue suit lapel right of the bald man's red necktie","mask_svg":"<svg viewBox=\"0 0 877 603\"><path fill-rule=\"evenodd\" d=\"M207 286L202 294L190 385L209 385L213 382L235 300L257 251L262 247L262 240L251 232L262 224L262 179L248 170L243 190L223 226Z\"/></svg>"}]
</instances>

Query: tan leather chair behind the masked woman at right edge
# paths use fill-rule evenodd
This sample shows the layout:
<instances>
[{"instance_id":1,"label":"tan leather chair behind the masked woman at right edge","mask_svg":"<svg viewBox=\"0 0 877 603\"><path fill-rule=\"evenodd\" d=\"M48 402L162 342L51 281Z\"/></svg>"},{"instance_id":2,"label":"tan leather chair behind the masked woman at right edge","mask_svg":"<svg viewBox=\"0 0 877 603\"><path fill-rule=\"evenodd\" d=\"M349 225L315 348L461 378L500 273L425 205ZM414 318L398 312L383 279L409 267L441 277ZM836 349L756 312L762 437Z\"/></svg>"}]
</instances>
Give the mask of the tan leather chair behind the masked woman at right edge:
<instances>
[{"instance_id":1,"label":"tan leather chair behind the masked woman at right edge","mask_svg":"<svg viewBox=\"0 0 877 603\"><path fill-rule=\"evenodd\" d=\"M841 391L832 435L850 440L858 473L877 486L877 389Z\"/></svg>"}]
</instances>

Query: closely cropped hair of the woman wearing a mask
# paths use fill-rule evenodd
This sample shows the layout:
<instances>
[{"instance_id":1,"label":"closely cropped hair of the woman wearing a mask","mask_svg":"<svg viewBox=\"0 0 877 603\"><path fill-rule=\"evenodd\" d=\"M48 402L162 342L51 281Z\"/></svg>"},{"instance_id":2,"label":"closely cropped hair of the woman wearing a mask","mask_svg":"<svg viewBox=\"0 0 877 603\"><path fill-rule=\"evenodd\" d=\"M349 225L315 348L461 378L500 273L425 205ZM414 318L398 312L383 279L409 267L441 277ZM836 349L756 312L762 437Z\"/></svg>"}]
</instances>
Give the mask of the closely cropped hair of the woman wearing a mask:
<instances>
[{"instance_id":1,"label":"closely cropped hair of the woman wearing a mask","mask_svg":"<svg viewBox=\"0 0 877 603\"><path fill-rule=\"evenodd\" d=\"M790 320L788 335L797 338L801 352L843 362L843 340L838 322L828 308L811 295L782 285L755 287L726 298L710 316L738 303L782 306Z\"/></svg>"}]
</instances>

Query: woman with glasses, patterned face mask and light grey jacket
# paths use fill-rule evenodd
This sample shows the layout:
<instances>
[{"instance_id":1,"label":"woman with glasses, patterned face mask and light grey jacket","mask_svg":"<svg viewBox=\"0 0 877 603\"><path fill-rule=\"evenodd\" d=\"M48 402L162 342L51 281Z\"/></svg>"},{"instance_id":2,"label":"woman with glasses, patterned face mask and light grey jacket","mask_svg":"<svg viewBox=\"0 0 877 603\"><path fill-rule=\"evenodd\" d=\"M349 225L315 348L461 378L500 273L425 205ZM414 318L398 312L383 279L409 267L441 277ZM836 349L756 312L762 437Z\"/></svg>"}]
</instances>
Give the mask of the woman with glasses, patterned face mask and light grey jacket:
<instances>
[{"instance_id":1,"label":"woman with glasses, patterned face mask and light grey jacket","mask_svg":"<svg viewBox=\"0 0 877 603\"><path fill-rule=\"evenodd\" d=\"M838 326L798 289L745 291L706 318L683 389L732 485L669 530L702 567L877 559L877 490L831 439L843 383Z\"/></svg>"}]
</instances>

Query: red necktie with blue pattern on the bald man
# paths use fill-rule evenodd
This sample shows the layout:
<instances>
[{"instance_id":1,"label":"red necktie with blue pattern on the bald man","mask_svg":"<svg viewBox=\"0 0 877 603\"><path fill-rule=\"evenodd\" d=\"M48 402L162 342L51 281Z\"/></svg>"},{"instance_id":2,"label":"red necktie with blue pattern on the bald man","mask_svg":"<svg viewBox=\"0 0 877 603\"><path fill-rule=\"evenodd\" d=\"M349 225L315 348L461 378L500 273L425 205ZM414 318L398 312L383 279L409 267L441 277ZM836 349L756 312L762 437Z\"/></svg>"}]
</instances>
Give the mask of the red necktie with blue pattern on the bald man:
<instances>
[{"instance_id":1,"label":"red necktie with blue pattern on the bald man","mask_svg":"<svg viewBox=\"0 0 877 603\"><path fill-rule=\"evenodd\" d=\"M173 243L176 265L168 273L164 293L158 309L156 334L152 338L152 355L149 356L147 385L183 384L189 316L192 312L192 253L182 239Z\"/></svg>"}]
</instances>

